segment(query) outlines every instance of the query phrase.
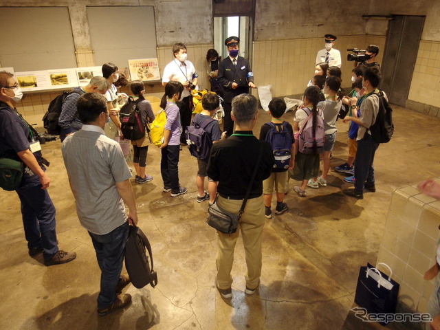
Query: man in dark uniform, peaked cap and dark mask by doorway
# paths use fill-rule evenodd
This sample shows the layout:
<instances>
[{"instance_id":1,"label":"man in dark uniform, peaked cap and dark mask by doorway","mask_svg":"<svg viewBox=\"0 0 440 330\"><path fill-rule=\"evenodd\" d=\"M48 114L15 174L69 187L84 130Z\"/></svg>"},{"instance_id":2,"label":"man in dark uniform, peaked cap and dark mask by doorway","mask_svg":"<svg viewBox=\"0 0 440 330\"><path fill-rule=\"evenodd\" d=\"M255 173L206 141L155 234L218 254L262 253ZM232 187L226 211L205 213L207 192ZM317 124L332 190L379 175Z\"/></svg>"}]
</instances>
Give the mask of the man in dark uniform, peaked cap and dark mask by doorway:
<instances>
[{"instance_id":1,"label":"man in dark uniform, peaked cap and dark mask by doorway","mask_svg":"<svg viewBox=\"0 0 440 330\"><path fill-rule=\"evenodd\" d=\"M225 118L223 131L229 137L234 130L234 122L231 119L232 99L240 94L249 94L249 87L255 88L254 74L248 60L239 56L238 36L230 36L225 40L229 56L221 61L217 80L223 86L223 110Z\"/></svg>"}]
</instances>

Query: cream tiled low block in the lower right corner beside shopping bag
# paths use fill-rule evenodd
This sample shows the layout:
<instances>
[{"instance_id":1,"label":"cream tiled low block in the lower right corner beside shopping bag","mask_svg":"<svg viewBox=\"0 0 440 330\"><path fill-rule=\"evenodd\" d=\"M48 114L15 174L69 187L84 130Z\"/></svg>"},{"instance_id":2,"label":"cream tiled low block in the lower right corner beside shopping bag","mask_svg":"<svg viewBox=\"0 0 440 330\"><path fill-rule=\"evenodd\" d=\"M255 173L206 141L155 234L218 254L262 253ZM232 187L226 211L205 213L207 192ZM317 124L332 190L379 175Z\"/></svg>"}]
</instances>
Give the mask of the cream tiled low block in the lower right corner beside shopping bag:
<instances>
[{"instance_id":1,"label":"cream tiled low block in the lower right corner beside shopping bag","mask_svg":"<svg viewBox=\"0 0 440 330\"><path fill-rule=\"evenodd\" d=\"M393 192L377 262L392 268L400 284L399 300L421 313L426 312L434 285L423 280L423 273L435 263L439 225L439 200L421 194L417 185Z\"/></svg>"}]
</instances>

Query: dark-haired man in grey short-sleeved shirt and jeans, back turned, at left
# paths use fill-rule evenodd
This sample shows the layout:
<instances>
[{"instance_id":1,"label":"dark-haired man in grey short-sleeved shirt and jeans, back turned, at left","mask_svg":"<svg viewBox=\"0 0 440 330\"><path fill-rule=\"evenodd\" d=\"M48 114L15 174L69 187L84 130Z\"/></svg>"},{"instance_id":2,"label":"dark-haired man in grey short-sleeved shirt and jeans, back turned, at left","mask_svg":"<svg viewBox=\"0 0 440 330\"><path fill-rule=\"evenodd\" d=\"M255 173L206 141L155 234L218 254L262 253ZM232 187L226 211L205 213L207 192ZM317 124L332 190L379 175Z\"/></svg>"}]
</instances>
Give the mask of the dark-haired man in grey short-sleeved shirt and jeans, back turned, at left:
<instances>
[{"instance_id":1,"label":"dark-haired man in grey short-sleeved shirt and jeans, back turned, at left","mask_svg":"<svg viewBox=\"0 0 440 330\"><path fill-rule=\"evenodd\" d=\"M89 232L101 270L98 315L102 316L131 303L129 294L120 294L129 284L121 270L129 224L137 224L137 211L122 149L104 134L110 120L107 100L86 93L78 98L77 107L83 127L66 137L61 151L76 213Z\"/></svg>"}]
</instances>

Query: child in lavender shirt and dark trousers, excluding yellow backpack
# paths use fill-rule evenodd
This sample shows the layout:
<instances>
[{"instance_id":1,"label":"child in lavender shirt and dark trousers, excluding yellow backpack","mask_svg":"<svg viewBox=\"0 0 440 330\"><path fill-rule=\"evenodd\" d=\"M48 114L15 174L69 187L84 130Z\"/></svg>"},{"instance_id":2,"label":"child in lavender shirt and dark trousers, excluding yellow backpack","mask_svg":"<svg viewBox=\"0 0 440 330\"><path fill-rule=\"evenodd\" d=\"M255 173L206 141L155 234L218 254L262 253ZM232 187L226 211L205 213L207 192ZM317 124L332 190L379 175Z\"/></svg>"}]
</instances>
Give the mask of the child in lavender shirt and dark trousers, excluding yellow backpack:
<instances>
[{"instance_id":1,"label":"child in lavender shirt and dark trousers, excluding yellow backpack","mask_svg":"<svg viewBox=\"0 0 440 330\"><path fill-rule=\"evenodd\" d=\"M179 184L179 147L180 147L180 113L176 102L180 100L184 86L178 81L168 81L165 85L165 94L160 101L160 107L166 113L164 126L164 142L159 146L162 152L160 159L160 173L164 180L164 192L171 192L171 197L186 193L186 188Z\"/></svg>"}]
</instances>

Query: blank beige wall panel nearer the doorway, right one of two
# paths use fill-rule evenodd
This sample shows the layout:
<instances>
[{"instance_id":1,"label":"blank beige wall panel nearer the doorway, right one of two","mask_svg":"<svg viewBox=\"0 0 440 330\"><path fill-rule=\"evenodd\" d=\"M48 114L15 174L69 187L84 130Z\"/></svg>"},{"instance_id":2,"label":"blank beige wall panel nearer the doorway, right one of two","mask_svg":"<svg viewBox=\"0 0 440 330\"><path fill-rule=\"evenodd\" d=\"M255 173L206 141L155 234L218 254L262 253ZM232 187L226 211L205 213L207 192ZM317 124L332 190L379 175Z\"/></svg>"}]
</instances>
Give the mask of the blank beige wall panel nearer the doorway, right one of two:
<instances>
[{"instance_id":1,"label":"blank beige wall panel nearer the doorway, right one of two","mask_svg":"<svg viewBox=\"0 0 440 330\"><path fill-rule=\"evenodd\" d=\"M87 19L96 65L157 58L153 6L87 7Z\"/></svg>"}]
</instances>

